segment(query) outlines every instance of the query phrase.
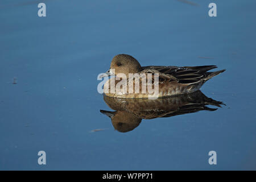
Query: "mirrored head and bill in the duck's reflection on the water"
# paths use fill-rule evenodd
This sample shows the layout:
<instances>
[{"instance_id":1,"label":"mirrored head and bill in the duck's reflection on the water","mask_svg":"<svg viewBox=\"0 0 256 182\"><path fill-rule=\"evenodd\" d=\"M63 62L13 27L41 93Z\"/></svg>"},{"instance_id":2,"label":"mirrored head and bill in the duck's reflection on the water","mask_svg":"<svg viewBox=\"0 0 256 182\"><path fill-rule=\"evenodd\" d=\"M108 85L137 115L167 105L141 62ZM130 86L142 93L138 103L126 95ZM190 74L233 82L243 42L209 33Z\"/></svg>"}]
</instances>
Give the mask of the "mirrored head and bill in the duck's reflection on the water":
<instances>
[{"instance_id":1,"label":"mirrored head and bill in the duck's reflection on the water","mask_svg":"<svg viewBox=\"0 0 256 182\"><path fill-rule=\"evenodd\" d=\"M100 111L101 113L108 115L108 117L111 118L114 129L122 133L135 129L135 127L139 126L142 121L141 118L138 118L127 111Z\"/></svg>"}]
</instances>

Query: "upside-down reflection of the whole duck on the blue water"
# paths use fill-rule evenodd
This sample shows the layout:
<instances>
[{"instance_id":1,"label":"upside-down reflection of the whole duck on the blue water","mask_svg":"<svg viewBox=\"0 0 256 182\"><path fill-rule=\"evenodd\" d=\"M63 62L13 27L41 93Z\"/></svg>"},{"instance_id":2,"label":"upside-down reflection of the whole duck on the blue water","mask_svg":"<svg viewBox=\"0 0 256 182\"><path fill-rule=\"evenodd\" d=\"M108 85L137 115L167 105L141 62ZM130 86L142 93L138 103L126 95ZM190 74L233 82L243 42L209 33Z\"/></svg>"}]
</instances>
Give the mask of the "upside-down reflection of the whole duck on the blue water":
<instances>
[{"instance_id":1,"label":"upside-down reflection of the whole duck on the blue water","mask_svg":"<svg viewBox=\"0 0 256 182\"><path fill-rule=\"evenodd\" d=\"M116 111L101 110L101 113L111 118L114 128L127 132L139 126L142 119L172 117L180 114L196 113L200 110L214 111L207 105L221 107L220 101L205 96L200 90L194 93L182 94L156 100L116 98L104 95L104 101Z\"/></svg>"}]
</instances>

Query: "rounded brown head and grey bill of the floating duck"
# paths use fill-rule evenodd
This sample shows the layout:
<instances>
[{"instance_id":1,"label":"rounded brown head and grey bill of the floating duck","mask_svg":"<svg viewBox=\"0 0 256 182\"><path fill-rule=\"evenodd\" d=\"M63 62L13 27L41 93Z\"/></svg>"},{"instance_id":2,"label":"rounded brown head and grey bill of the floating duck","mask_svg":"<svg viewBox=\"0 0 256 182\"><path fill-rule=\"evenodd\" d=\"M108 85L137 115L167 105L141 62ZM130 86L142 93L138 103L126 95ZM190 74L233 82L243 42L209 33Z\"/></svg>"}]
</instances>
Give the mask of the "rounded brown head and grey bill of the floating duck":
<instances>
[{"instance_id":1,"label":"rounded brown head and grey bill of the floating duck","mask_svg":"<svg viewBox=\"0 0 256 182\"><path fill-rule=\"evenodd\" d=\"M141 71L141 64L130 55L116 55L111 61L110 69L104 76L117 75L118 73L124 73L127 77L129 73L138 73Z\"/></svg>"}]
</instances>

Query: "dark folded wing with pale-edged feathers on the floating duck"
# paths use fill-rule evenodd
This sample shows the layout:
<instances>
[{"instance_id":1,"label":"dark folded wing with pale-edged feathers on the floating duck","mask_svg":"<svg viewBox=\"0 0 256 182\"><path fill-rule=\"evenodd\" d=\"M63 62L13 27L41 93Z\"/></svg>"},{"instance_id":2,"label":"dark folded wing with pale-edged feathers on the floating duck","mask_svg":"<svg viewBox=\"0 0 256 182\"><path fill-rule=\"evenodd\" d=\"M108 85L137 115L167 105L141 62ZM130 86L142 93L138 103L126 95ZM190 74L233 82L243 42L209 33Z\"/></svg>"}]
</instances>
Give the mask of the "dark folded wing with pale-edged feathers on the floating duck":
<instances>
[{"instance_id":1,"label":"dark folded wing with pale-edged feathers on the floating duck","mask_svg":"<svg viewBox=\"0 0 256 182\"><path fill-rule=\"evenodd\" d=\"M217 68L216 65L199 67L148 66L142 67L142 72L159 73L159 81L178 81L181 84L195 84L208 75L207 71L213 68Z\"/></svg>"}]
</instances>

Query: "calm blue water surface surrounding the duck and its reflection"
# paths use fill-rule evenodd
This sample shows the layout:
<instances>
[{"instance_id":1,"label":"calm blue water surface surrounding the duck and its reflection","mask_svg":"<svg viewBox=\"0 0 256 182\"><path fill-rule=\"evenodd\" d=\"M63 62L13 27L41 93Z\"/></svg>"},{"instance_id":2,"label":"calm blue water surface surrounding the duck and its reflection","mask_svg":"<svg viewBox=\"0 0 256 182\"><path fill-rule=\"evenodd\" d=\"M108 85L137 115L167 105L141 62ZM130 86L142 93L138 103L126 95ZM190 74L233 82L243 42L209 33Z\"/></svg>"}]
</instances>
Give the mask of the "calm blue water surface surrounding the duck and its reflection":
<instances>
[{"instance_id":1,"label":"calm blue water surface surrounding the duck and its reflection","mask_svg":"<svg viewBox=\"0 0 256 182\"><path fill-rule=\"evenodd\" d=\"M256 169L256 2L214 1L210 18L212 1L191 1L49 0L39 18L39 1L2 0L0 169ZM120 133L97 92L118 53L227 69L201 88L226 106Z\"/></svg>"}]
</instances>

